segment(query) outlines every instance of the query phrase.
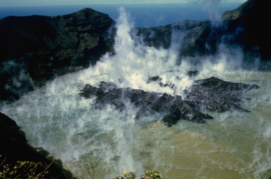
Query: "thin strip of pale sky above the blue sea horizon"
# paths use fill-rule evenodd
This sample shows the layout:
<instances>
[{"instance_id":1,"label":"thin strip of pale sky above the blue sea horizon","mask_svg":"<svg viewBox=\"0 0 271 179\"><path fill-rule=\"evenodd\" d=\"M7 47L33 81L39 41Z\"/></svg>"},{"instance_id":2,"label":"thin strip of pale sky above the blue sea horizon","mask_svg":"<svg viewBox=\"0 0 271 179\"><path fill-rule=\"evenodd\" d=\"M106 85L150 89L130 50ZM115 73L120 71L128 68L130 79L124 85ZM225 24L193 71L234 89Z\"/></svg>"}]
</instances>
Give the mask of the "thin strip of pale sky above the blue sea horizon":
<instances>
[{"instance_id":1,"label":"thin strip of pale sky above the blue sea horizon","mask_svg":"<svg viewBox=\"0 0 271 179\"><path fill-rule=\"evenodd\" d=\"M202 1L243 3L247 0L0 0L0 7L80 4L187 3Z\"/></svg>"}]
</instances>

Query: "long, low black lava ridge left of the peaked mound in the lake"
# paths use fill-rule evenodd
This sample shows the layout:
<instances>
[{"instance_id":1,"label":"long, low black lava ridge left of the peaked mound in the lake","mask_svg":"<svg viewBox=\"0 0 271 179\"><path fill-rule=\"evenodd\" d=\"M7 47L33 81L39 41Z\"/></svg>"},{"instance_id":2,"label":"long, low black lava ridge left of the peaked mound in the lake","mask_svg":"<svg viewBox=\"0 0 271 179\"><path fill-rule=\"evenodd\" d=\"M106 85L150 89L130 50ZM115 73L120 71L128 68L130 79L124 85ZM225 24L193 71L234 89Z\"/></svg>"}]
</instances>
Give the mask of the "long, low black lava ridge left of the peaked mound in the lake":
<instances>
[{"instance_id":1,"label":"long, low black lava ridge left of the peaked mound in the lake","mask_svg":"<svg viewBox=\"0 0 271 179\"><path fill-rule=\"evenodd\" d=\"M140 108L140 115L147 112L158 112L163 117L163 122L167 126L175 124L180 119L205 123L205 119L212 119L212 116L204 114L195 109L195 105L189 101L182 100L178 95L172 96L164 93L163 95L155 92L146 92L141 89L117 88L114 83L101 82L99 88L87 84L79 93L80 96L89 98L96 96L95 108L103 108L107 104L112 104L116 109L125 110L125 101L130 101L134 106Z\"/></svg>"}]
</instances>

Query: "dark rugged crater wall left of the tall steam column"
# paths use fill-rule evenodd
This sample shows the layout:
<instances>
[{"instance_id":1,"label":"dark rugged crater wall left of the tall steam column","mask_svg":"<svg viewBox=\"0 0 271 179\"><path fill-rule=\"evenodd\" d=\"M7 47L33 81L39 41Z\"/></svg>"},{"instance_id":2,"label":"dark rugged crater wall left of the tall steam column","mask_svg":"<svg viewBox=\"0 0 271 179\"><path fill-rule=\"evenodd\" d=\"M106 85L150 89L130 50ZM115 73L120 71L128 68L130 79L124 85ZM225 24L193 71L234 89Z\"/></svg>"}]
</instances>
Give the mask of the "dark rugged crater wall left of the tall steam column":
<instances>
[{"instance_id":1,"label":"dark rugged crater wall left of the tall steam column","mask_svg":"<svg viewBox=\"0 0 271 179\"><path fill-rule=\"evenodd\" d=\"M107 14L90 8L55 17L1 19L1 100L18 99L55 75L95 64L112 51L107 36L113 23Z\"/></svg>"}]
</instances>

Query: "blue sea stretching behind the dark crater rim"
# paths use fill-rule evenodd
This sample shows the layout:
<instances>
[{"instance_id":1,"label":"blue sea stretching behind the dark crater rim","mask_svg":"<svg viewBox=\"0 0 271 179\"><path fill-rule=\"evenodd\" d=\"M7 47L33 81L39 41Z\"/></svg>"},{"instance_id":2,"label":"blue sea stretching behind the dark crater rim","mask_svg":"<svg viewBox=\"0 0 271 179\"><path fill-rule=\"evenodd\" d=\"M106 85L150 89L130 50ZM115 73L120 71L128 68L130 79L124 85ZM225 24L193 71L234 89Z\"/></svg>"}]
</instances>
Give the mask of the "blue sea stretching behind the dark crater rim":
<instances>
[{"instance_id":1,"label":"blue sea stretching behind the dark crater rim","mask_svg":"<svg viewBox=\"0 0 271 179\"><path fill-rule=\"evenodd\" d=\"M0 7L0 19L7 16L46 15L56 16L70 14L83 8L92 8L108 14L116 20L119 8L124 7L130 14L130 20L135 27L156 27L175 23L181 20L204 21L214 13L237 8L242 3L221 3L218 5L202 3L157 3L157 4L93 4L93 5L52 5L52 6L21 6Z\"/></svg>"}]
</instances>

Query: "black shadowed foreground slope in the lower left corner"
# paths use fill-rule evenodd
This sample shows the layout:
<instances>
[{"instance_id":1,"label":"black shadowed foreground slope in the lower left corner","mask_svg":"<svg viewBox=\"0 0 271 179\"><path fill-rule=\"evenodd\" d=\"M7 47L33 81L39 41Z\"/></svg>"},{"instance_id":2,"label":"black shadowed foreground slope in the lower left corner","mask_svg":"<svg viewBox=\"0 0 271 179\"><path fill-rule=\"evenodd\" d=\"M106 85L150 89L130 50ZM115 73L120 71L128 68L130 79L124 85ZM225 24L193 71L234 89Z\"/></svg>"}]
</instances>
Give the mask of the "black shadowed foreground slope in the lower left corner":
<instances>
[{"instance_id":1,"label":"black shadowed foreground slope in the lower left corner","mask_svg":"<svg viewBox=\"0 0 271 179\"><path fill-rule=\"evenodd\" d=\"M42 147L34 148L30 146L25 138L23 132L17 123L0 112L0 167L6 164L16 164L17 161L30 161L41 162L42 164L50 164L52 156L49 156ZM2 171L2 169L0 171ZM72 173L63 168L62 161L55 159L52 165L48 168L48 174L45 178L58 178L58 179L75 179Z\"/></svg>"}]
</instances>

